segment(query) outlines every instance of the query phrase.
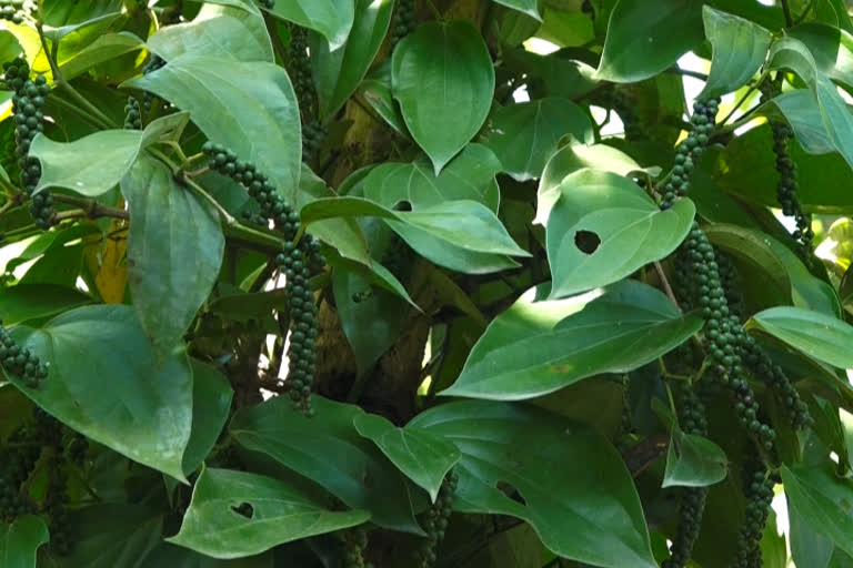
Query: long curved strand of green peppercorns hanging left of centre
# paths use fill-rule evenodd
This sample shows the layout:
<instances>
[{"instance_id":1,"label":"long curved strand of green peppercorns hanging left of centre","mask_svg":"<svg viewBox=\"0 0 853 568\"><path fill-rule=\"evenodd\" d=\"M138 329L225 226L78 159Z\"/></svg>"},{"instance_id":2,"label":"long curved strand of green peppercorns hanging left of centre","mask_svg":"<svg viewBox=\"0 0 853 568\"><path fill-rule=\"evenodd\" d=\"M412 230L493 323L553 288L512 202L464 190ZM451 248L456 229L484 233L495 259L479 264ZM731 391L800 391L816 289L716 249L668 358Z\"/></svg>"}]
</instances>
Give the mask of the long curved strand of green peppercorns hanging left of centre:
<instances>
[{"instance_id":1,"label":"long curved strand of green peppercorns hanging left of centre","mask_svg":"<svg viewBox=\"0 0 853 568\"><path fill-rule=\"evenodd\" d=\"M275 256L275 264L284 273L291 334L288 348L291 385L290 397L308 416L311 407L311 385L315 371L315 341L318 335L317 306L309 285L312 271L325 265L320 253L320 242L310 234L300 233L299 214L284 201L275 185L254 164L237 159L237 154L221 144L207 142L202 146L213 170L242 184L259 204L261 216L271 220L275 230L284 236L283 251Z\"/></svg>"}]
</instances>

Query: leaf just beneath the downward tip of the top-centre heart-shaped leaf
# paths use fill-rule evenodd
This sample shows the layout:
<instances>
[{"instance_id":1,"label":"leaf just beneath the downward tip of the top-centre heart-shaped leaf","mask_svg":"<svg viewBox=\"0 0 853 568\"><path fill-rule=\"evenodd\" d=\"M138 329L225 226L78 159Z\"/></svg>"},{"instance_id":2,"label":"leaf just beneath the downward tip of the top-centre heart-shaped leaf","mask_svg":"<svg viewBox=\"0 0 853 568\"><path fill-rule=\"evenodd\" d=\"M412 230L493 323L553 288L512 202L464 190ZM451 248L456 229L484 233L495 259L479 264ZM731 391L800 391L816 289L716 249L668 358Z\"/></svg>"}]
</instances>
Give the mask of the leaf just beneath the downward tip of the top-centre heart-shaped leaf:
<instances>
[{"instance_id":1,"label":"leaf just beneath the downward tip of the top-centre heart-shaped leaf","mask_svg":"<svg viewBox=\"0 0 853 568\"><path fill-rule=\"evenodd\" d=\"M500 171L501 162L490 149L469 144L439 175L425 159L380 164L364 179L364 196L388 207L408 201L413 210L473 200L496 213L501 196L494 176Z\"/></svg>"}]
</instances>

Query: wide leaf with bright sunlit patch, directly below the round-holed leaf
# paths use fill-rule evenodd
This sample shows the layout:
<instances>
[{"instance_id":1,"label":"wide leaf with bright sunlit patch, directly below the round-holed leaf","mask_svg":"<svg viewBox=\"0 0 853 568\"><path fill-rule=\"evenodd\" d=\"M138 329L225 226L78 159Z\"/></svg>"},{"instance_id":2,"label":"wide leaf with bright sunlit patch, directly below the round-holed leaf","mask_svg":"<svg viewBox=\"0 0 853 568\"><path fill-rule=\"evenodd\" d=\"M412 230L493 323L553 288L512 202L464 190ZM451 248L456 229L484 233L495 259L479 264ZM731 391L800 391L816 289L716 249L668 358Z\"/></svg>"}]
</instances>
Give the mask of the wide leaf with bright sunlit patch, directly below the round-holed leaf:
<instances>
[{"instance_id":1,"label":"wide leaf with bright sunlit patch, directly below the round-holed leaf","mask_svg":"<svg viewBox=\"0 0 853 568\"><path fill-rule=\"evenodd\" d=\"M532 292L492 321L442 395L541 396L601 373L633 371L702 328L701 317L681 315L636 281L613 285L585 307L578 300L534 302Z\"/></svg>"}]
</instances>

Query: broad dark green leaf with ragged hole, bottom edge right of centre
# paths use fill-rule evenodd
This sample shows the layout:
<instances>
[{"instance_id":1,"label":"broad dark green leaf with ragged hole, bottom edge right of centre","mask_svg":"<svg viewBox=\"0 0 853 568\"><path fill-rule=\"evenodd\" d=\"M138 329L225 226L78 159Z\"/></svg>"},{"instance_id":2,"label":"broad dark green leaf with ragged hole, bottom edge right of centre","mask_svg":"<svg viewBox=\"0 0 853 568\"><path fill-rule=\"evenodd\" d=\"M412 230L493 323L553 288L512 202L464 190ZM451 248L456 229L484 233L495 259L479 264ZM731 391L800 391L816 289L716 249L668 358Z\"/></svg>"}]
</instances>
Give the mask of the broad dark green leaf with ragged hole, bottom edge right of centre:
<instances>
[{"instance_id":1,"label":"broad dark green leaf with ragged hole, bottom edge right of centre","mask_svg":"<svg viewBox=\"0 0 853 568\"><path fill-rule=\"evenodd\" d=\"M454 509L523 519L569 559L658 566L631 476L601 435L541 408L481 400L438 406L407 428L428 429L462 452Z\"/></svg>"}]
</instances>

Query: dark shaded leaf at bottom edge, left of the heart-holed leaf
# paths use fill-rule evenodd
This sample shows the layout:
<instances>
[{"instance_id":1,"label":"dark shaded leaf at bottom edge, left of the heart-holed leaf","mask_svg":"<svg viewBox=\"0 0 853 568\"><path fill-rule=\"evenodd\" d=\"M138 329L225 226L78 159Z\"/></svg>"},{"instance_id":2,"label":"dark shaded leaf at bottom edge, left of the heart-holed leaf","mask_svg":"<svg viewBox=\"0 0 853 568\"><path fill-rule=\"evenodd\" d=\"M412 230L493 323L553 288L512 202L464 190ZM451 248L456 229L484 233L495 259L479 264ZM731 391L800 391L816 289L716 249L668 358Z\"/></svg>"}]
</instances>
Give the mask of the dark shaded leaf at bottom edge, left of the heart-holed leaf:
<instances>
[{"instance_id":1,"label":"dark shaded leaf at bottom edge, left of the heart-holed leaf","mask_svg":"<svg viewBox=\"0 0 853 568\"><path fill-rule=\"evenodd\" d=\"M162 542L163 513L131 504L99 504L69 513L74 546L48 568L139 568ZM41 566L41 562L39 564Z\"/></svg>"}]
</instances>

